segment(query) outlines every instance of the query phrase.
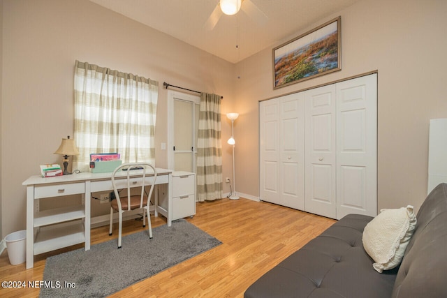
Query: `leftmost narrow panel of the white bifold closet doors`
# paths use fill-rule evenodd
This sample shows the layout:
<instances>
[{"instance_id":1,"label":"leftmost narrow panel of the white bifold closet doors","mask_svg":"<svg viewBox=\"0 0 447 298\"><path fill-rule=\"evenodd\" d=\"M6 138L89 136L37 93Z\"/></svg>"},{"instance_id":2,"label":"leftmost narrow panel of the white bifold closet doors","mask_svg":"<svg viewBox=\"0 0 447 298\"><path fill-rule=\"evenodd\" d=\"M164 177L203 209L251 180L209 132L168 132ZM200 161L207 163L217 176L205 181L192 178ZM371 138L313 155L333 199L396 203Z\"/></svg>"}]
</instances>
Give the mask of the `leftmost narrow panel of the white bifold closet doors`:
<instances>
[{"instance_id":1,"label":"leftmost narrow panel of the white bifold closet doors","mask_svg":"<svg viewBox=\"0 0 447 298\"><path fill-rule=\"evenodd\" d=\"M261 200L280 204L279 191L279 100L259 103L260 196Z\"/></svg>"}]
</instances>

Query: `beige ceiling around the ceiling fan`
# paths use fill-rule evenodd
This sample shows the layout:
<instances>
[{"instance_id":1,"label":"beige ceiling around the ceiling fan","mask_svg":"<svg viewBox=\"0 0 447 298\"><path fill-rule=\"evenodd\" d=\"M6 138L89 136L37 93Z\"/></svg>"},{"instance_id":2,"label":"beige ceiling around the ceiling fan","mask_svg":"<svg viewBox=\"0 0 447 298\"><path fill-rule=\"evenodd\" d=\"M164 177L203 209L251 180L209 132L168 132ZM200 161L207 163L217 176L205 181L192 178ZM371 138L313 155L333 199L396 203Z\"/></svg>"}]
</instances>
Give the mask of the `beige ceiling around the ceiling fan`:
<instances>
[{"instance_id":1,"label":"beige ceiling around the ceiling fan","mask_svg":"<svg viewBox=\"0 0 447 298\"><path fill-rule=\"evenodd\" d=\"M360 0L246 0L265 14L265 22L242 7L221 15L212 30L205 28L219 0L90 0L179 40L237 63L284 38L295 37L310 24Z\"/></svg>"}]
</instances>

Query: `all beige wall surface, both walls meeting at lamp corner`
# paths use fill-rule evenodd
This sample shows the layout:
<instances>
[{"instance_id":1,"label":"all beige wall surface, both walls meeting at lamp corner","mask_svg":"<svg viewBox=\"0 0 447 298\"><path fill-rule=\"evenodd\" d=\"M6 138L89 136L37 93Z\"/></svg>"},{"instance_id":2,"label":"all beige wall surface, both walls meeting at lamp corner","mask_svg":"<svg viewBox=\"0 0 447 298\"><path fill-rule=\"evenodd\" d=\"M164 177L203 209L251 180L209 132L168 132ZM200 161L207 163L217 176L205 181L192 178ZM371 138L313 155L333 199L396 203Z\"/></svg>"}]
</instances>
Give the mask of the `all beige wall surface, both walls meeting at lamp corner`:
<instances>
[{"instance_id":1,"label":"all beige wall surface, both walls meeting at lamp corner","mask_svg":"<svg viewBox=\"0 0 447 298\"><path fill-rule=\"evenodd\" d=\"M425 198L429 119L447 117L447 1L364 0L278 40L272 47L342 16L342 70L277 90L271 48L232 65L87 0L3 0L1 15L3 237L25 228L22 181L41 163L61 163L52 152L73 134L75 59L159 81L158 167L167 166L160 149L167 141L163 81L224 96L223 114L240 113L237 191L254 197L258 100L379 70L379 208L419 207ZM222 121L223 177L231 177L230 121Z\"/></svg>"}]
</instances>

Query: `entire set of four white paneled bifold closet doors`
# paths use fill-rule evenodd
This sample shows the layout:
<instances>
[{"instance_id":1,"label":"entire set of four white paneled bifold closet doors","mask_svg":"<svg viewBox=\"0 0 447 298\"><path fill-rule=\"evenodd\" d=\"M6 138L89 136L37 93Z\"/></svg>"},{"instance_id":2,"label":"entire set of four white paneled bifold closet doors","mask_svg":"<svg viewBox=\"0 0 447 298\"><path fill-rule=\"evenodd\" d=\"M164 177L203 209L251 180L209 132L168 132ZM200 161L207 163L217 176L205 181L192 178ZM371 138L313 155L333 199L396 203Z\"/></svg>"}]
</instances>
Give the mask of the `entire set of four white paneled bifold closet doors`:
<instances>
[{"instance_id":1,"label":"entire set of four white paneled bifold closet doors","mask_svg":"<svg viewBox=\"0 0 447 298\"><path fill-rule=\"evenodd\" d=\"M260 140L261 200L376 216L376 74L261 102Z\"/></svg>"}]
</instances>

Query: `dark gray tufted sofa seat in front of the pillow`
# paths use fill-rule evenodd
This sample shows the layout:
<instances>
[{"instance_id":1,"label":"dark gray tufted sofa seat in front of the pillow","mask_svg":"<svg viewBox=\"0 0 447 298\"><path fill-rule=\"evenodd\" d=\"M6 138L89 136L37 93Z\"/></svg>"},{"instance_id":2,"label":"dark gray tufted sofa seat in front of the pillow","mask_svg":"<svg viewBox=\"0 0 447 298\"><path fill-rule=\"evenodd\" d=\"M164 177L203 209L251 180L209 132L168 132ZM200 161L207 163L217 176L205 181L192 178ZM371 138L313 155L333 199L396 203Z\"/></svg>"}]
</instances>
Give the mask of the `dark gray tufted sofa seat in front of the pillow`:
<instances>
[{"instance_id":1,"label":"dark gray tufted sofa seat in front of the pillow","mask_svg":"<svg viewBox=\"0 0 447 298\"><path fill-rule=\"evenodd\" d=\"M370 216L349 214L261 276L244 297L390 297L396 271L377 274L362 245Z\"/></svg>"}]
</instances>

